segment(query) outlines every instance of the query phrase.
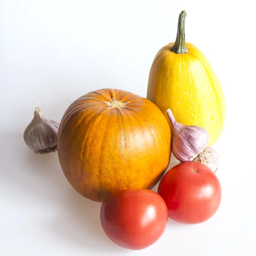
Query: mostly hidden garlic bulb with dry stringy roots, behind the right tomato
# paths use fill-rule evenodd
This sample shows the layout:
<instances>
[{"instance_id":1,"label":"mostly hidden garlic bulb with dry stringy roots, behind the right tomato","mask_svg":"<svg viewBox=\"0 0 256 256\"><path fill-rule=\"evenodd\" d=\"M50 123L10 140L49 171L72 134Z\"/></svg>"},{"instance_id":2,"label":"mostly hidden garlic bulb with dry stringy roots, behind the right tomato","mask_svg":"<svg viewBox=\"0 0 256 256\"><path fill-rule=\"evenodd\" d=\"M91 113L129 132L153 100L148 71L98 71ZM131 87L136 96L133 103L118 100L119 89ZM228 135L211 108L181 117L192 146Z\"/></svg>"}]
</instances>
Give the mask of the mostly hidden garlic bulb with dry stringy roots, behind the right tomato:
<instances>
[{"instance_id":1,"label":"mostly hidden garlic bulb with dry stringy roots, behind the right tomato","mask_svg":"<svg viewBox=\"0 0 256 256\"><path fill-rule=\"evenodd\" d=\"M218 154L213 148L206 147L201 154L193 159L193 162L203 163L212 169L213 172L216 172L219 165L218 158Z\"/></svg>"}]
</instances>

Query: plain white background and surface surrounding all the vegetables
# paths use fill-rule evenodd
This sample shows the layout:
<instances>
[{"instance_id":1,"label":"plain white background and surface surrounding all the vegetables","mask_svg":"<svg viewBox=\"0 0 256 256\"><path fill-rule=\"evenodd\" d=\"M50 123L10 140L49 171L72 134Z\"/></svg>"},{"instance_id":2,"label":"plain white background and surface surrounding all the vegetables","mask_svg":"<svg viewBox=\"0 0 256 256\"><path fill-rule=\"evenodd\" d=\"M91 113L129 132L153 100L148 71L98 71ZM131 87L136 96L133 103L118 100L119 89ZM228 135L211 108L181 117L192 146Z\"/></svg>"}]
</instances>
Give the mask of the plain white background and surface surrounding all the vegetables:
<instances>
[{"instance_id":1,"label":"plain white background and surface surrounding all the vegetables","mask_svg":"<svg viewBox=\"0 0 256 256\"><path fill-rule=\"evenodd\" d=\"M253 2L0 1L1 256L256 255ZM175 41L182 9L186 41L206 55L226 97L224 131L213 146L221 154L223 199L209 221L169 220L157 243L126 250L105 236L100 204L74 191L57 153L34 154L23 131L36 105L59 122L68 105L91 90L146 96L154 55Z\"/></svg>"}]
</instances>

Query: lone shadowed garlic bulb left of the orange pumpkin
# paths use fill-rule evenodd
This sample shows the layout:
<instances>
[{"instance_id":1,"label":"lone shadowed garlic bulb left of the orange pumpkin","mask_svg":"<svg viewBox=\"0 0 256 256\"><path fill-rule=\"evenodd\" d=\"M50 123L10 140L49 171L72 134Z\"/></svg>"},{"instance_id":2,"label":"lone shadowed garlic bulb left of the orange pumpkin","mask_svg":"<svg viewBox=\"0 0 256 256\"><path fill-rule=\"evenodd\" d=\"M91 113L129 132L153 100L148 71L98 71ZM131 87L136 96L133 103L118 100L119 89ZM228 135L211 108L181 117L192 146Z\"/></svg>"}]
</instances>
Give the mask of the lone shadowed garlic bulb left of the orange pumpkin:
<instances>
[{"instance_id":1,"label":"lone shadowed garlic bulb left of the orange pumpkin","mask_svg":"<svg viewBox=\"0 0 256 256\"><path fill-rule=\"evenodd\" d=\"M46 119L42 116L40 108L36 107L34 118L24 131L24 141L35 153L56 151L58 127L58 122Z\"/></svg>"}]
</instances>

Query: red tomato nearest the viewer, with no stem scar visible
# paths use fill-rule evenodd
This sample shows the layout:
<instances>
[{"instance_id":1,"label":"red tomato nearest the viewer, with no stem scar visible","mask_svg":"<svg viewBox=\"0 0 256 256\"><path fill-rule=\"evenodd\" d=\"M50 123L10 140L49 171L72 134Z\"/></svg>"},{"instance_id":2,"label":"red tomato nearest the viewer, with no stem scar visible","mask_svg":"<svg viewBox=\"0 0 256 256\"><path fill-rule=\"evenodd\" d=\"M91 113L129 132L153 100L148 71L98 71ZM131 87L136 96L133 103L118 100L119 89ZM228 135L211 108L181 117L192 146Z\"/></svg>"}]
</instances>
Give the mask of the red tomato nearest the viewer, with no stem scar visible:
<instances>
[{"instance_id":1,"label":"red tomato nearest the viewer, with no stem scar visible","mask_svg":"<svg viewBox=\"0 0 256 256\"><path fill-rule=\"evenodd\" d=\"M147 189L111 193L100 210L102 228L121 247L141 250L154 244L166 229L168 211L163 198Z\"/></svg>"}]
</instances>

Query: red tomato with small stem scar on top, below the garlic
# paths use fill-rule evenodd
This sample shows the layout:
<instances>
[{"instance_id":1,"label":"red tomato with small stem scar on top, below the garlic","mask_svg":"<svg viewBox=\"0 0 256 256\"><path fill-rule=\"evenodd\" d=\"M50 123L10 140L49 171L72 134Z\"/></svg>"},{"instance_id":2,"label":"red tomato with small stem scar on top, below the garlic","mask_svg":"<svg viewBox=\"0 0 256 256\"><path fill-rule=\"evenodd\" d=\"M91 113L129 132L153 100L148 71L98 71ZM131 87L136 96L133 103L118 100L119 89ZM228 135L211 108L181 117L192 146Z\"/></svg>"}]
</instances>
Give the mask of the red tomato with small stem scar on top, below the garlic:
<instances>
[{"instance_id":1,"label":"red tomato with small stem scar on top, below the garlic","mask_svg":"<svg viewBox=\"0 0 256 256\"><path fill-rule=\"evenodd\" d=\"M188 224L207 221L221 203L221 184L202 163L180 163L160 180L159 195L166 202L169 218Z\"/></svg>"}]
</instances>

